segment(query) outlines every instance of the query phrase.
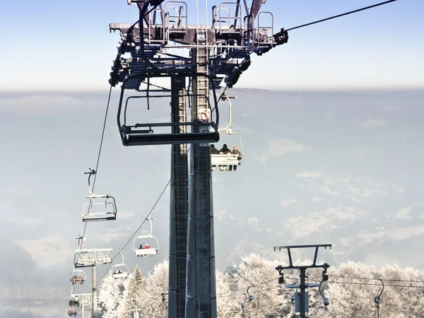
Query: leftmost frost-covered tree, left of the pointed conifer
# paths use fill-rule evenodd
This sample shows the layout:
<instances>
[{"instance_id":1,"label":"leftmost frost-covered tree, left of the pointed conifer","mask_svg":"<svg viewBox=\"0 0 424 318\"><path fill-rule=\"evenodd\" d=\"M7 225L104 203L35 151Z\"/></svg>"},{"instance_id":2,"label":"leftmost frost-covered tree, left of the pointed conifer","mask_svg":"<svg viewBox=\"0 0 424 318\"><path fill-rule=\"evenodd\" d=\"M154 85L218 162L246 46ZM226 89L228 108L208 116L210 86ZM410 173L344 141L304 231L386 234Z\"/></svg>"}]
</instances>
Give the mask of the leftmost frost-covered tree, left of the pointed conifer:
<instances>
[{"instance_id":1,"label":"leftmost frost-covered tree, left of the pointed conifer","mask_svg":"<svg viewBox=\"0 0 424 318\"><path fill-rule=\"evenodd\" d=\"M118 307L124 297L124 281L107 273L99 288L99 302L103 302L102 318L119 318Z\"/></svg>"}]
</instances>

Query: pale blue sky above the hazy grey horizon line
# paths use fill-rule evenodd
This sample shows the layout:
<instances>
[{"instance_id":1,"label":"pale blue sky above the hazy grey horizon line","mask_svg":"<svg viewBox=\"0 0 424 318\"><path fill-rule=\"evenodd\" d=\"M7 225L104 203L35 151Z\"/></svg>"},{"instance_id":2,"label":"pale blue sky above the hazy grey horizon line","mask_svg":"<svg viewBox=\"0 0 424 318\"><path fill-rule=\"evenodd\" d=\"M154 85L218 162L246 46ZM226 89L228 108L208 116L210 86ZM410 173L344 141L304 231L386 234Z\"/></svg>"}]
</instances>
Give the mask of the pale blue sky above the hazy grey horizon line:
<instances>
[{"instance_id":1,"label":"pale blue sky above the hazy grey horizon line","mask_svg":"<svg viewBox=\"0 0 424 318\"><path fill-rule=\"evenodd\" d=\"M268 0L263 10L278 30L377 2ZM287 45L253 59L237 87L424 88L423 14L423 1L399 0L293 30ZM108 24L137 14L123 0L23 0L1 1L0 20L0 90L107 90L119 41Z\"/></svg>"}]
</instances>

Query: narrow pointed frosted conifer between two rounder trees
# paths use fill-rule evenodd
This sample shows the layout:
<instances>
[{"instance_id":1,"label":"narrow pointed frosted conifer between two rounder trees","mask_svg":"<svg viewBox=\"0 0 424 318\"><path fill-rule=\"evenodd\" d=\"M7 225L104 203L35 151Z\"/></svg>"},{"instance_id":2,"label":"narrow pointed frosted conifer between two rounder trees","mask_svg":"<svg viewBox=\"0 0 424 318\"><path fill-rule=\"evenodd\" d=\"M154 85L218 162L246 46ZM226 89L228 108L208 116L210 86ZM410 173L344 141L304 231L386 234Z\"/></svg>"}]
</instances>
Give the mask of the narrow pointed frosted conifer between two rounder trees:
<instances>
[{"instance_id":1,"label":"narrow pointed frosted conifer between two rounder trees","mask_svg":"<svg viewBox=\"0 0 424 318\"><path fill-rule=\"evenodd\" d=\"M124 292L122 308L118 308L119 318L132 318L134 317L135 310L141 308L143 283L143 275L139 266L136 266L134 272L131 274L131 278L128 279L128 287Z\"/></svg>"}]
</instances>

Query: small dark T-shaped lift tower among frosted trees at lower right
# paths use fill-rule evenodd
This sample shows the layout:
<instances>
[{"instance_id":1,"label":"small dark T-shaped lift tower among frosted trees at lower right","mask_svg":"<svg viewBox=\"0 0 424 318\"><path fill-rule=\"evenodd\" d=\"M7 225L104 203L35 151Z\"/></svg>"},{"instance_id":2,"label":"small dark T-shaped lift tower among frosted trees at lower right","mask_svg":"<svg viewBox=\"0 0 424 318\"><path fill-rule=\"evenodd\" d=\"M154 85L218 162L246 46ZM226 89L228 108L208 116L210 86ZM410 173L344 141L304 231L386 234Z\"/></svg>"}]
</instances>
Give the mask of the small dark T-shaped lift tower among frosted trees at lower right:
<instances>
[{"instance_id":1,"label":"small dark T-shaped lift tower among frosted trees at lower right","mask_svg":"<svg viewBox=\"0 0 424 318\"><path fill-rule=\"evenodd\" d=\"M281 249L287 249L288 253L288 266L281 266L278 265L276 267L276 270L280 274L280 277L278 278L278 283L284 283L284 269L298 269L300 271L300 284L290 284L285 285L285 288L299 288L300 293L295 293L295 298L293 301L295 302L295 312L300 313L300 318L306 318L307 313L309 312L309 305L308 305L308 294L307 289L310 287L319 287L319 295L322 296L323 302L325 307L329 305L329 301L327 298L325 298L324 295L322 295L321 291L321 284L314 284L314 283L306 283L306 271L307 269L317 269L322 268L324 271L322 272L322 283L326 280L328 280L328 276L326 275L326 270L330 267L329 264L317 264L317 257L318 257L318 249L319 247L324 247L326 249L329 247L331 249L331 244L319 244L319 245L290 245L290 246L274 246L274 252L278 249L278 251L281 251ZM292 249L308 249L308 248L314 248L314 260L312 261L312 264L310 265L294 265L291 251Z\"/></svg>"}]
</instances>

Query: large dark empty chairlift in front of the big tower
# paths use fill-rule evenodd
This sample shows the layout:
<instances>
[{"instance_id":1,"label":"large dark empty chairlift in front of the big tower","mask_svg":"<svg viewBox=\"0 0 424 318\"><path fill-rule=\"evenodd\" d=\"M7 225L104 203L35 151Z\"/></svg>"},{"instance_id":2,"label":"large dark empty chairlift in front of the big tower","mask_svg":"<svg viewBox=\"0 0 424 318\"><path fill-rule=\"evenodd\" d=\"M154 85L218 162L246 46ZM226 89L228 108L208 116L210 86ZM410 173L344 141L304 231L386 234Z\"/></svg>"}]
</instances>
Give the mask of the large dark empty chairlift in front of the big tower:
<instances>
[{"instance_id":1,"label":"large dark empty chairlift in front of the big tower","mask_svg":"<svg viewBox=\"0 0 424 318\"><path fill-rule=\"evenodd\" d=\"M171 81L179 81L178 86L185 90L186 77L202 77L209 78L212 83L211 98L206 98L206 109L196 114L191 122L146 122L146 124L128 124L127 110L129 101L134 99L146 100L147 108L149 109L150 101L157 98L172 98L176 96L175 92L162 93L163 90L149 90L150 84L148 83L147 90L140 90L140 84L145 78L163 78L170 77L169 74L160 73L153 69L144 71L144 73L136 73L126 76L122 83L121 95L119 98L117 124L119 134L121 135L122 144L124 146L141 146L141 145L169 145L169 144L182 144L182 143L213 143L219 141L218 133L218 102L216 99L216 90L213 85L213 79L205 73L190 73L181 71L178 73L178 78L171 77ZM136 89L139 92L146 92L146 95L133 95L126 97L124 100L124 91L129 89ZM160 93L160 94L159 94ZM204 98L198 92L178 94L179 98ZM179 116L179 114L175 114ZM170 128L165 131L165 128ZM190 130L189 127L192 129Z\"/></svg>"}]
</instances>

